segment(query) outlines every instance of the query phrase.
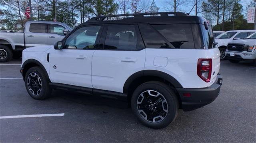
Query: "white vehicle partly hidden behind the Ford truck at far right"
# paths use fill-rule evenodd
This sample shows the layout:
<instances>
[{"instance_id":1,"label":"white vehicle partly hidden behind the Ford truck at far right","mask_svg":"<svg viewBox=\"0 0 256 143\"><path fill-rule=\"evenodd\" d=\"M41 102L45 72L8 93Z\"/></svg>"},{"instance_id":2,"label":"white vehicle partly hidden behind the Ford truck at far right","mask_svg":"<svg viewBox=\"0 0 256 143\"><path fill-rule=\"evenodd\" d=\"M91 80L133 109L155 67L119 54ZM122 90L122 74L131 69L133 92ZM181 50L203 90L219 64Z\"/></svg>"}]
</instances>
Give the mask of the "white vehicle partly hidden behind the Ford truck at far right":
<instances>
[{"instance_id":1,"label":"white vehicle partly hidden behind the Ford truck at far right","mask_svg":"<svg viewBox=\"0 0 256 143\"><path fill-rule=\"evenodd\" d=\"M230 43L233 40L244 39L254 32L256 32L256 30L231 30L218 35L215 38L215 42L217 43L218 48L220 49L220 59L226 59L225 52L228 43Z\"/></svg>"}]
</instances>

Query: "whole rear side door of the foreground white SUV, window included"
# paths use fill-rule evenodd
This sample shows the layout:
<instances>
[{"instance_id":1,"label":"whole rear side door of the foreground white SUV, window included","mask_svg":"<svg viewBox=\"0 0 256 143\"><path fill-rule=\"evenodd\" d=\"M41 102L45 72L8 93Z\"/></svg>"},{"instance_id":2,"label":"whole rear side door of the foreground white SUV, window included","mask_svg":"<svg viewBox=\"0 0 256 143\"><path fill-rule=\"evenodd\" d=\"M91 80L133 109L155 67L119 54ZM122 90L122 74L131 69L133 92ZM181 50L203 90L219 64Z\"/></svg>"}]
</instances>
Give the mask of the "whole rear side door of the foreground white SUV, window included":
<instances>
[{"instance_id":1,"label":"whole rear side door of the foreground white SUV, window included","mask_svg":"<svg viewBox=\"0 0 256 143\"><path fill-rule=\"evenodd\" d=\"M146 50L138 25L106 25L92 57L94 89L123 92L127 78L144 70Z\"/></svg>"}]
</instances>

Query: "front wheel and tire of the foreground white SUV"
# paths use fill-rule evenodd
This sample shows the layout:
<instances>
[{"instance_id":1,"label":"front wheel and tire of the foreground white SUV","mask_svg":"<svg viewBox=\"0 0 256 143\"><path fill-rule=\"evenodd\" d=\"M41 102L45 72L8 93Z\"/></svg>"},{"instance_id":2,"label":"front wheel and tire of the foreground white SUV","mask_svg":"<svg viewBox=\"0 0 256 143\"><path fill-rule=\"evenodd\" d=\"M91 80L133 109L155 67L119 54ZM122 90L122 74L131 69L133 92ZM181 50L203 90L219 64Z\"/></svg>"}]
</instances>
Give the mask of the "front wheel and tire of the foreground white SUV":
<instances>
[{"instance_id":1,"label":"front wheel and tire of the foreground white SUV","mask_svg":"<svg viewBox=\"0 0 256 143\"><path fill-rule=\"evenodd\" d=\"M36 100L43 100L51 94L47 75L40 67L28 69L25 76L25 86L28 94Z\"/></svg>"}]
</instances>

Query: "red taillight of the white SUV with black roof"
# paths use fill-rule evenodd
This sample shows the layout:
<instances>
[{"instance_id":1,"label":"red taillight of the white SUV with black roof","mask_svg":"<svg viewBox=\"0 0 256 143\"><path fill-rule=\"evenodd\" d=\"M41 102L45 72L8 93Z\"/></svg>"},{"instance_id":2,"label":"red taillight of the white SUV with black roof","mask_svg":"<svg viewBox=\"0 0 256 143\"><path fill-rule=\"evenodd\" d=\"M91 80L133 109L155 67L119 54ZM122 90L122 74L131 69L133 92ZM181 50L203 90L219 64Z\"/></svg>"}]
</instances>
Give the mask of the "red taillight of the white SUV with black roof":
<instances>
[{"instance_id":1,"label":"red taillight of the white SUV with black roof","mask_svg":"<svg viewBox=\"0 0 256 143\"><path fill-rule=\"evenodd\" d=\"M197 75L205 82L210 82L212 74L212 59L198 59Z\"/></svg>"}]
</instances>

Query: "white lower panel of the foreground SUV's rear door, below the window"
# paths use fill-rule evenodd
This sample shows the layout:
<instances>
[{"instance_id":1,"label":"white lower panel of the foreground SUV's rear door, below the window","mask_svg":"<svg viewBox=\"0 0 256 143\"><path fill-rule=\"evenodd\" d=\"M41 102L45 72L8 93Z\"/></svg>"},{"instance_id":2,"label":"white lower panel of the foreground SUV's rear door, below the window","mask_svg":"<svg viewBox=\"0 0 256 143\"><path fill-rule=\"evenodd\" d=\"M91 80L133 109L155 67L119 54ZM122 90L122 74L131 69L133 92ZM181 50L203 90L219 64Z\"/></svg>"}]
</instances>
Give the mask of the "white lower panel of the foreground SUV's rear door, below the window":
<instances>
[{"instance_id":1,"label":"white lower panel of the foreground SUV's rear door, below the window","mask_svg":"<svg viewBox=\"0 0 256 143\"><path fill-rule=\"evenodd\" d=\"M144 70L146 49L141 51L96 50L92 58L92 86L123 92L127 78Z\"/></svg>"}]
</instances>

